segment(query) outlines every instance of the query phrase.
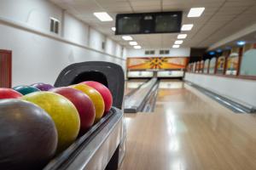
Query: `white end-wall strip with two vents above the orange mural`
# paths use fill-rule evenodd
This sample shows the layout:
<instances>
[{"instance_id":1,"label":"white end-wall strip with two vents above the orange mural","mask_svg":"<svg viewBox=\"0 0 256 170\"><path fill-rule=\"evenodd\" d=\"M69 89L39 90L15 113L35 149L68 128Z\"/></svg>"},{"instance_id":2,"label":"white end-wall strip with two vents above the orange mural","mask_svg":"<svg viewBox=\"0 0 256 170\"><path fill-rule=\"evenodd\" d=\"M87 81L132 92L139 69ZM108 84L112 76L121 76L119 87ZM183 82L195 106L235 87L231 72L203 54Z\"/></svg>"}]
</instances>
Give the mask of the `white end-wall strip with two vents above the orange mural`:
<instances>
[{"instance_id":1,"label":"white end-wall strip with two vents above the orange mural","mask_svg":"<svg viewBox=\"0 0 256 170\"><path fill-rule=\"evenodd\" d=\"M170 54L159 54L160 48L146 49L146 50L155 50L155 54L145 55L145 49L128 48L126 57L148 57L148 56L189 57L190 55L190 48L169 48Z\"/></svg>"}]
</instances>

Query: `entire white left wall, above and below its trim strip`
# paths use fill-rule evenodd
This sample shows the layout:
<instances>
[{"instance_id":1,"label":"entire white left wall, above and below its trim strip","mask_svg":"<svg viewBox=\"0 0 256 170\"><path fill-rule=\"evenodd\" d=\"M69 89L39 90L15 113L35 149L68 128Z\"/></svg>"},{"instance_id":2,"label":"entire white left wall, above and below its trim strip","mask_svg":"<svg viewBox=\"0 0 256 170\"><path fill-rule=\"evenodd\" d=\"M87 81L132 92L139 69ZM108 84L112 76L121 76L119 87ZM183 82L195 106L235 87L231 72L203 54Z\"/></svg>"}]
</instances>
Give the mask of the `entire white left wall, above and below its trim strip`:
<instances>
[{"instance_id":1,"label":"entire white left wall, above and below its trim strip","mask_svg":"<svg viewBox=\"0 0 256 170\"><path fill-rule=\"evenodd\" d=\"M49 17L64 24L60 35L49 32ZM125 69L116 42L109 39L108 51L102 50L106 38L48 1L0 1L0 48L13 52L13 86L53 84L65 66L82 61L108 61Z\"/></svg>"}]
</instances>

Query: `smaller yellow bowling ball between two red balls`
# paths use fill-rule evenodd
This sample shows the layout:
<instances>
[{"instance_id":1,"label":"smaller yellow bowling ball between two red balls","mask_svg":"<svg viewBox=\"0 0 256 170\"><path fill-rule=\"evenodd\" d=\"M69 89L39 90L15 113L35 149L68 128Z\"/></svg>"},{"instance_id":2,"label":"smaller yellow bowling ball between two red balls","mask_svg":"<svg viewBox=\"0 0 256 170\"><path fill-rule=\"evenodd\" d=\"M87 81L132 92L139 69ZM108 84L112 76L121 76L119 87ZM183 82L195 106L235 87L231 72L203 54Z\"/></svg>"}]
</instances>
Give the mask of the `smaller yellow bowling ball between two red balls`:
<instances>
[{"instance_id":1,"label":"smaller yellow bowling ball between two red balls","mask_svg":"<svg viewBox=\"0 0 256 170\"><path fill-rule=\"evenodd\" d=\"M100 121L103 113L104 113L104 100L102 98L102 95L96 91L94 88L90 88L90 86L87 86L85 84L76 84L71 86L72 88L76 88L78 90L81 90L84 92L84 94L87 94L90 99L92 100L94 106L95 106L95 111L96 111L96 116L95 116L95 123Z\"/></svg>"}]
</instances>

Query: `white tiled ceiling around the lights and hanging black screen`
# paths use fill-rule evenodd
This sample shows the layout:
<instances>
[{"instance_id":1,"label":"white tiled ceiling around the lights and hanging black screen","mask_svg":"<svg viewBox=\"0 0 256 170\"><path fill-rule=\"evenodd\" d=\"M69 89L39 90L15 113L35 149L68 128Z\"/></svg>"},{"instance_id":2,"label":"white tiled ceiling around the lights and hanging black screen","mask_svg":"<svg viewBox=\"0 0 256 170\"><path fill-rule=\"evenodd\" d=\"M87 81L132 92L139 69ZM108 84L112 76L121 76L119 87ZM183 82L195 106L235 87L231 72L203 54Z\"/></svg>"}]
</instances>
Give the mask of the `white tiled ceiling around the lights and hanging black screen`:
<instances>
[{"instance_id":1,"label":"white tiled ceiling around the lights and hanging black screen","mask_svg":"<svg viewBox=\"0 0 256 170\"><path fill-rule=\"evenodd\" d=\"M183 11L183 24L194 24L192 31L182 31L188 37L181 47L209 47L256 22L256 0L50 0L67 9L85 23L108 35L125 47L129 46L121 36L115 36L111 27L114 21L101 22L93 13L106 11L113 19L116 14L160 11ZM188 18L189 8L205 7L200 18ZM134 35L143 48L171 48L177 33Z\"/></svg>"}]
</instances>

